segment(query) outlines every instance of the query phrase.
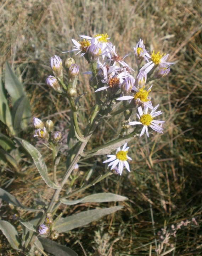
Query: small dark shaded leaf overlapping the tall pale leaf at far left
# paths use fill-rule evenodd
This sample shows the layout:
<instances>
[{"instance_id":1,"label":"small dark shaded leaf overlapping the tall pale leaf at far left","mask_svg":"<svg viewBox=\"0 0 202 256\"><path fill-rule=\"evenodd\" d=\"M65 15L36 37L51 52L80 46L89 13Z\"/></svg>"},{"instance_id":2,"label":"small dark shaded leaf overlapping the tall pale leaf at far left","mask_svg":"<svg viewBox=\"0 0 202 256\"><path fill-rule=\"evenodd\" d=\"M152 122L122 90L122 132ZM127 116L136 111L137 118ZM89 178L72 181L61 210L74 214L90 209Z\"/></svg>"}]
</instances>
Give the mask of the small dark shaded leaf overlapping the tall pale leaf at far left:
<instances>
[{"instance_id":1,"label":"small dark shaded leaf overlapping the tall pale leaf at far left","mask_svg":"<svg viewBox=\"0 0 202 256\"><path fill-rule=\"evenodd\" d=\"M21 127L20 125L22 121L24 107L25 107L25 97L23 95L17 99L11 111L13 127L16 130L16 132L19 132Z\"/></svg>"}]
</instances>

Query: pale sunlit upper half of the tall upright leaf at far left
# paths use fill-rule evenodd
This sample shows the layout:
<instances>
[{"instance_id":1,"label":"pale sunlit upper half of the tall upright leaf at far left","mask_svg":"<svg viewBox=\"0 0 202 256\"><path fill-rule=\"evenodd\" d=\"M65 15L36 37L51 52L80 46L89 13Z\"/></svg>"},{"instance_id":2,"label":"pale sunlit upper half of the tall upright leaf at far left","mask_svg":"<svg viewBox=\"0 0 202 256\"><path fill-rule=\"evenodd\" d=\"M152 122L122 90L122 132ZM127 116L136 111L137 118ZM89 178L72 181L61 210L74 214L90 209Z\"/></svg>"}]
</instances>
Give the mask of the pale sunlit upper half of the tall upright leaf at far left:
<instances>
[{"instance_id":1,"label":"pale sunlit upper half of the tall upright leaf at far left","mask_svg":"<svg viewBox=\"0 0 202 256\"><path fill-rule=\"evenodd\" d=\"M13 106L18 98L24 96L22 84L18 80L17 76L13 73L7 61L5 65L5 88L11 96Z\"/></svg>"}]
</instances>

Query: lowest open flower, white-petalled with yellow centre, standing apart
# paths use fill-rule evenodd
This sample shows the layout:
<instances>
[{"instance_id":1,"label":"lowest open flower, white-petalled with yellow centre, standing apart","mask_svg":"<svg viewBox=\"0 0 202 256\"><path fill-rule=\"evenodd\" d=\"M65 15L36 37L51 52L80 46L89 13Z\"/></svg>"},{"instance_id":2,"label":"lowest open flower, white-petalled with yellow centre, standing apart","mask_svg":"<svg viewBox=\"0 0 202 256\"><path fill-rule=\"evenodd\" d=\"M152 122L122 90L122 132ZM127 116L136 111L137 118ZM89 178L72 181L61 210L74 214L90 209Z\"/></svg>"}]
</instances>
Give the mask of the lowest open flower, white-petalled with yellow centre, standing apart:
<instances>
[{"instance_id":1,"label":"lowest open flower, white-petalled with yellow centre, standing apart","mask_svg":"<svg viewBox=\"0 0 202 256\"><path fill-rule=\"evenodd\" d=\"M123 145L122 150L120 149L120 147L117 149L116 155L107 155L109 159L103 161L103 163L111 162L110 164L108 164L108 167L111 166L111 170L116 170L116 173L119 173L120 175L122 175L124 166L130 172L130 166L127 160L132 160L132 159L127 155L128 149L129 147L127 147L127 143L125 143ZM117 169L117 165L118 165L118 169Z\"/></svg>"}]
</instances>

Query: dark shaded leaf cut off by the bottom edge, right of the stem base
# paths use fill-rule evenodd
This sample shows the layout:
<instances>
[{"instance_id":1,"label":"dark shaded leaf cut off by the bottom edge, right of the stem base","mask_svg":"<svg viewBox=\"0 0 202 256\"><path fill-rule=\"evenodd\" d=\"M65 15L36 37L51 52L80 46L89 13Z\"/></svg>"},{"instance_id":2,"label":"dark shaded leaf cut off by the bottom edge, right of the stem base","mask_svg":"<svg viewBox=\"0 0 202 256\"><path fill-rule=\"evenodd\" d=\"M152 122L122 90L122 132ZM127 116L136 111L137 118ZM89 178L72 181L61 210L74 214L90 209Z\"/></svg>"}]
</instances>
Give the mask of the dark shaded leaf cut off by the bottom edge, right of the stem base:
<instances>
[{"instance_id":1,"label":"dark shaded leaf cut off by the bottom edge, right of the stem base","mask_svg":"<svg viewBox=\"0 0 202 256\"><path fill-rule=\"evenodd\" d=\"M78 256L78 254L72 249L64 245L57 244L50 239L41 237L38 237L38 239L41 242L44 250L50 252L50 254L54 256Z\"/></svg>"}]
</instances>

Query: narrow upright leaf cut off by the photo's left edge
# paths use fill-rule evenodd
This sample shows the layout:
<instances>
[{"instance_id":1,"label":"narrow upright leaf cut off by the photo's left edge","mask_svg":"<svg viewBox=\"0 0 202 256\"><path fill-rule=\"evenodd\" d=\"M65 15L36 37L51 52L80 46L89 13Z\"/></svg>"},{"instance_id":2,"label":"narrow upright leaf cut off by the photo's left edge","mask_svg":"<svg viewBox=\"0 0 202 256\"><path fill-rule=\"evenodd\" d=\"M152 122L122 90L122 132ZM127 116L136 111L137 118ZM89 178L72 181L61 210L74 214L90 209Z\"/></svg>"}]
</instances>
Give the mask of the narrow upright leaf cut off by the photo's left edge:
<instances>
[{"instance_id":1,"label":"narrow upright leaf cut off by the photo's left edge","mask_svg":"<svg viewBox=\"0 0 202 256\"><path fill-rule=\"evenodd\" d=\"M6 97L6 90L2 78L0 77L0 120L2 123L9 127L9 131L12 135L15 135L15 131L12 126L11 111L9 108L9 102Z\"/></svg>"}]
</instances>

